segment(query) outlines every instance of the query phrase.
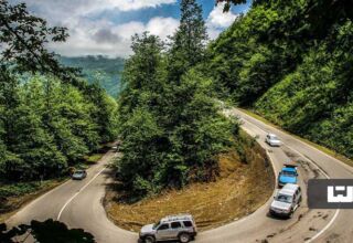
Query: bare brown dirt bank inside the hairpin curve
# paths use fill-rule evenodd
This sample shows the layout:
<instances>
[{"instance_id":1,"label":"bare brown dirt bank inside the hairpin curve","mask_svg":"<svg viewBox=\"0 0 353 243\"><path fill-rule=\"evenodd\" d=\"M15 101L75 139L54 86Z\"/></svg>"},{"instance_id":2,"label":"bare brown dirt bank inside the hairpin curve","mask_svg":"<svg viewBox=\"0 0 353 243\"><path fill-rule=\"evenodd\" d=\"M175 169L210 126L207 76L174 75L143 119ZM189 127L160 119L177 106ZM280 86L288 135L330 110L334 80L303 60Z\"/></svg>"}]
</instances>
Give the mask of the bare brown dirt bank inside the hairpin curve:
<instances>
[{"instance_id":1,"label":"bare brown dirt bank inside the hairpin curve","mask_svg":"<svg viewBox=\"0 0 353 243\"><path fill-rule=\"evenodd\" d=\"M264 150L256 144L246 157L248 162L244 163L229 151L220 157L216 181L168 190L136 203L121 201L121 193L109 187L104 200L107 214L119 228L130 231L178 213L191 213L201 231L237 220L263 205L275 187Z\"/></svg>"}]
</instances>

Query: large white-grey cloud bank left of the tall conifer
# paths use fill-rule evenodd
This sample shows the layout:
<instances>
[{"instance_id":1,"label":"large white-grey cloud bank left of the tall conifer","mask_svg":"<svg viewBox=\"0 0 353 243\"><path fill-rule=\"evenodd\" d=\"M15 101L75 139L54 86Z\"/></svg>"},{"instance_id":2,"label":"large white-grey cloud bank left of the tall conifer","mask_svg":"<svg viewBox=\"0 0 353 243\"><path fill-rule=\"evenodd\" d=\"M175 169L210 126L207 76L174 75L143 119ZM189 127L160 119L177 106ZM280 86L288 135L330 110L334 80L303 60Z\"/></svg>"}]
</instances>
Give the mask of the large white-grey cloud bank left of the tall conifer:
<instances>
[{"instance_id":1,"label":"large white-grey cloud bank left of the tall conifer","mask_svg":"<svg viewBox=\"0 0 353 243\"><path fill-rule=\"evenodd\" d=\"M50 25L68 28L69 38L65 43L49 44L54 52L67 56L103 54L126 57L131 54L131 35L135 33L148 31L163 40L179 25L178 20L161 17L154 17L147 23L131 21L122 24L105 17L93 18L105 10L119 14L121 11L172 4L176 0L10 0L11 3L23 1Z\"/></svg>"}]
</instances>

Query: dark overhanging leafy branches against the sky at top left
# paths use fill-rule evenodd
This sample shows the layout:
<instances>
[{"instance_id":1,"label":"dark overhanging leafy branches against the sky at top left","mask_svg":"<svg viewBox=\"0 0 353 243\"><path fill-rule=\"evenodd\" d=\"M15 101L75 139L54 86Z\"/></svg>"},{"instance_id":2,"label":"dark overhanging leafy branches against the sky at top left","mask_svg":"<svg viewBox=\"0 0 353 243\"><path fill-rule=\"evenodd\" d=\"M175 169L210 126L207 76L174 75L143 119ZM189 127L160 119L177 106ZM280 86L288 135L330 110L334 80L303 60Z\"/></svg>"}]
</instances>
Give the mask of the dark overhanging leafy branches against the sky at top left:
<instances>
[{"instance_id":1,"label":"dark overhanging leafy branches against the sky at top left","mask_svg":"<svg viewBox=\"0 0 353 243\"><path fill-rule=\"evenodd\" d=\"M0 67L1 72L11 63L17 72L42 72L72 81L77 74L74 68L62 66L49 42L64 42L67 30L62 27L47 27L46 21L30 14L25 3L9 4L0 1Z\"/></svg>"}]
</instances>

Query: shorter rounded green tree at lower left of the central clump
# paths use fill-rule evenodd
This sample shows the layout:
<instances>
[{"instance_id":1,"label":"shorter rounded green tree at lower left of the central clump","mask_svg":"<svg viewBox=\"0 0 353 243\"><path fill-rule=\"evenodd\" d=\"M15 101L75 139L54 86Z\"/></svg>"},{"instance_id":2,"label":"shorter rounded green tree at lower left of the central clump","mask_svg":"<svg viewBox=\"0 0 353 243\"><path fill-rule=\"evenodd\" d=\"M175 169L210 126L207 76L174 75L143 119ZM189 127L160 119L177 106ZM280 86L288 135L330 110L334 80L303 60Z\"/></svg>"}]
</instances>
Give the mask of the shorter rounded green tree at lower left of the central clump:
<instances>
[{"instance_id":1,"label":"shorter rounded green tree at lower left of the central clump","mask_svg":"<svg viewBox=\"0 0 353 243\"><path fill-rule=\"evenodd\" d=\"M157 118L147 109L137 108L121 126L119 161L120 178L125 187L132 188L135 193L157 192L160 187L160 166L163 163L163 130Z\"/></svg>"}]
</instances>

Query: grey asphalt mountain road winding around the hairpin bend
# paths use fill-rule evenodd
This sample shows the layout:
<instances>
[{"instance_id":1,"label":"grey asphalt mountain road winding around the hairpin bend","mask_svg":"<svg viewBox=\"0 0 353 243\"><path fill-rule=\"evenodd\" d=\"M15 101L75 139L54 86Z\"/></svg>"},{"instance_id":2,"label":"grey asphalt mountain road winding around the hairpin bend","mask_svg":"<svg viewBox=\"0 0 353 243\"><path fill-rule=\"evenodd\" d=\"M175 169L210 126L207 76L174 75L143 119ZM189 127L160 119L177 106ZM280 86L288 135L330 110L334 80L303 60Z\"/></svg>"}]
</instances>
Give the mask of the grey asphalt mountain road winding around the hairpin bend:
<instances>
[{"instance_id":1,"label":"grey asphalt mountain road winding around the hairpin bend","mask_svg":"<svg viewBox=\"0 0 353 243\"><path fill-rule=\"evenodd\" d=\"M284 162L300 161L300 186L306 191L310 178L353 178L353 169L322 151L259 122L238 109L227 109L227 115L238 116L243 129L258 136L259 144L267 150L277 175ZM265 144L267 133L282 140L280 148ZM110 222L103 207L109 169L106 167L116 156L106 154L99 163L88 170L83 181L67 181L34 200L7 222L10 226L29 223L31 220L55 219L69 228L81 228L95 235L98 243L136 243L138 235L117 228ZM201 232L196 242L353 242L353 210L309 210L303 202L290 220L267 215L271 198L254 213L210 231Z\"/></svg>"}]
</instances>

